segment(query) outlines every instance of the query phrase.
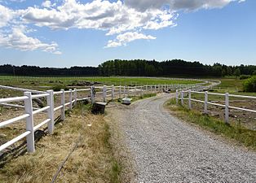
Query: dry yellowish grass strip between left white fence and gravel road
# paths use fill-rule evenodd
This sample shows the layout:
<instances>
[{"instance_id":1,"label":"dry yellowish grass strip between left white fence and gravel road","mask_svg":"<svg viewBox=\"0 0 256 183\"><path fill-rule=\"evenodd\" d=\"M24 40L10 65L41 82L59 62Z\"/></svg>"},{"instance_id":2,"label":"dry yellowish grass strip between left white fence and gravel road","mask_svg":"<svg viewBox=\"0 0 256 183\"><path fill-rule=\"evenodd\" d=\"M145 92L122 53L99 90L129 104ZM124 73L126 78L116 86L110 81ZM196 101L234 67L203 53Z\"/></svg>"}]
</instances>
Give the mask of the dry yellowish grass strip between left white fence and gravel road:
<instances>
[{"instance_id":1,"label":"dry yellowish grass strip between left white fence and gravel road","mask_svg":"<svg viewBox=\"0 0 256 183\"><path fill-rule=\"evenodd\" d=\"M55 182L120 182L121 167L113 158L111 134L104 115L91 115L90 106L67 111L55 133L36 142L36 152L26 153L0 169L0 182L51 182L70 151Z\"/></svg>"}]
</instances>

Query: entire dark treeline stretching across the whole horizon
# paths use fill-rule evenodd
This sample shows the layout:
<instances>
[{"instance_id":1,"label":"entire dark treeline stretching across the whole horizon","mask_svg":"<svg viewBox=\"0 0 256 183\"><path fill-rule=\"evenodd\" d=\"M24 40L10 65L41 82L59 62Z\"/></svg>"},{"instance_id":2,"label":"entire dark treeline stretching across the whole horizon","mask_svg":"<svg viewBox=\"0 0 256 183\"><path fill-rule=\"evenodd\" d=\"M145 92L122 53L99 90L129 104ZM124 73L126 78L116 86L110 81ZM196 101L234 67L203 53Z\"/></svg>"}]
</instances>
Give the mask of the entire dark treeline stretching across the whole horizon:
<instances>
[{"instance_id":1,"label":"entire dark treeline stretching across the whole horizon","mask_svg":"<svg viewBox=\"0 0 256 183\"><path fill-rule=\"evenodd\" d=\"M240 76L253 75L256 66L227 66L220 63L205 65L181 59L157 62L155 60L109 60L98 67L40 68L36 66L0 65L1 75L10 76Z\"/></svg>"}]
</instances>

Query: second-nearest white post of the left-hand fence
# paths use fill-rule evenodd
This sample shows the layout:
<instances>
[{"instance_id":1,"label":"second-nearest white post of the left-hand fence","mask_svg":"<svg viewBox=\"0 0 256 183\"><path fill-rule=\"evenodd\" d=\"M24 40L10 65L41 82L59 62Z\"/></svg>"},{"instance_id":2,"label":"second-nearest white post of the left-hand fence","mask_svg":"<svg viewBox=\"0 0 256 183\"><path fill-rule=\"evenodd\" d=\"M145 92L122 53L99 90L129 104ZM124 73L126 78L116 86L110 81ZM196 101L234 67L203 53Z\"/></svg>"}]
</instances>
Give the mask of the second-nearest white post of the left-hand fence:
<instances>
[{"instance_id":1,"label":"second-nearest white post of the left-hand fence","mask_svg":"<svg viewBox=\"0 0 256 183\"><path fill-rule=\"evenodd\" d=\"M47 94L49 94L49 96L47 96L47 106L50 106L50 108L47 110L47 115L50 119L48 122L48 132L52 134L55 125L53 90L47 90Z\"/></svg>"}]
</instances>

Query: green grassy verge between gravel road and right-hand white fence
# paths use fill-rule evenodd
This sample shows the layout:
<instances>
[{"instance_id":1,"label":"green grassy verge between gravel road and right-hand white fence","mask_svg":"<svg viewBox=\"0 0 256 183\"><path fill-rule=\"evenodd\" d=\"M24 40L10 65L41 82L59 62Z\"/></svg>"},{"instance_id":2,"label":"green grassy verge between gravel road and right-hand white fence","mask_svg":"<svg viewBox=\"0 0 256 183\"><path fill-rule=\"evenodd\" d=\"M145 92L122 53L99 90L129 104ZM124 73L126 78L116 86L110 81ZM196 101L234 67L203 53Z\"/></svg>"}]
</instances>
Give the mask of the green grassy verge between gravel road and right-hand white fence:
<instances>
[{"instance_id":1,"label":"green grassy verge between gravel road and right-hand white fence","mask_svg":"<svg viewBox=\"0 0 256 183\"><path fill-rule=\"evenodd\" d=\"M202 115L198 111L190 111L186 107L176 105L174 99L167 102L166 107L181 120L196 124L223 137L234 139L236 142L256 150L256 131L245 129L239 124L225 124L222 120L210 117L209 115Z\"/></svg>"}]
</instances>

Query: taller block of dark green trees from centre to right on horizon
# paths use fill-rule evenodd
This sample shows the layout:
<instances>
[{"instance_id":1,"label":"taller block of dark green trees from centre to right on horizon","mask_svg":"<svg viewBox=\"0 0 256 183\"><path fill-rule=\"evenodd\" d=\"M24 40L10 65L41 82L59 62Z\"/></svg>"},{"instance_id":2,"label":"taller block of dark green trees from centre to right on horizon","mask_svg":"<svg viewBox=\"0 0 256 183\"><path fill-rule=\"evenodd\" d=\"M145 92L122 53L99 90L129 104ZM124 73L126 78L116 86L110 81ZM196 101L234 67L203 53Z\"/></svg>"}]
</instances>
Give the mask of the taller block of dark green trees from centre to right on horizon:
<instances>
[{"instance_id":1,"label":"taller block of dark green trees from centre to right on horizon","mask_svg":"<svg viewBox=\"0 0 256 183\"><path fill-rule=\"evenodd\" d=\"M240 76L252 75L256 66L226 66L220 63L204 65L181 59L157 62L155 60L109 60L99 65L100 76Z\"/></svg>"}]
</instances>

